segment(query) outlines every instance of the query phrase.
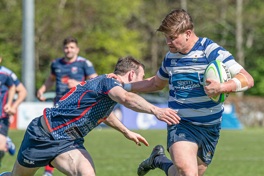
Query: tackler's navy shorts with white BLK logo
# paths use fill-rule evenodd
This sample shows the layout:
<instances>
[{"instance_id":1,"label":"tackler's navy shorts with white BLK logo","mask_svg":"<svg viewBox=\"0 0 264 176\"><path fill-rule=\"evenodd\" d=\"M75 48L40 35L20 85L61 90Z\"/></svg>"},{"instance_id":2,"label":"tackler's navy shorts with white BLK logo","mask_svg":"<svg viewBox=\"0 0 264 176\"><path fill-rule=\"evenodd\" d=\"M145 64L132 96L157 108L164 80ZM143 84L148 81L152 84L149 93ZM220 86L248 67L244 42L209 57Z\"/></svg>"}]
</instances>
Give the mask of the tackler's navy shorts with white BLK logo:
<instances>
[{"instance_id":1,"label":"tackler's navy shorts with white BLK logo","mask_svg":"<svg viewBox=\"0 0 264 176\"><path fill-rule=\"evenodd\" d=\"M76 140L58 140L41 125L40 117L35 118L27 127L24 139L17 154L17 161L27 168L45 167L57 156L74 149L84 149L83 137Z\"/></svg>"}]
</instances>

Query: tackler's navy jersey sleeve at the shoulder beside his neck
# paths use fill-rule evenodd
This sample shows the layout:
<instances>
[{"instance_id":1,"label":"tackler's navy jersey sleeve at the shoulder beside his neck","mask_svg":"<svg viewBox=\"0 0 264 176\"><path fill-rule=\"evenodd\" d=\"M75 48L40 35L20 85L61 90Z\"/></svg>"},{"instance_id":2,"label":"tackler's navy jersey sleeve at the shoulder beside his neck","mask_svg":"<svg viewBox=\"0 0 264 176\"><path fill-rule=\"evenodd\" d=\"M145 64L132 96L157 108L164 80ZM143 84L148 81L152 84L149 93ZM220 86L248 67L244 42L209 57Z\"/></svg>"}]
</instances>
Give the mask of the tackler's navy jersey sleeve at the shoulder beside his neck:
<instances>
[{"instance_id":1,"label":"tackler's navy jersey sleeve at the shoulder beside his neck","mask_svg":"<svg viewBox=\"0 0 264 176\"><path fill-rule=\"evenodd\" d=\"M101 80L101 92L100 93L108 96L109 91L113 87L116 87L116 86L120 86L120 87L124 88L123 85L118 80L116 80L115 78L106 78L105 77Z\"/></svg>"}]
</instances>

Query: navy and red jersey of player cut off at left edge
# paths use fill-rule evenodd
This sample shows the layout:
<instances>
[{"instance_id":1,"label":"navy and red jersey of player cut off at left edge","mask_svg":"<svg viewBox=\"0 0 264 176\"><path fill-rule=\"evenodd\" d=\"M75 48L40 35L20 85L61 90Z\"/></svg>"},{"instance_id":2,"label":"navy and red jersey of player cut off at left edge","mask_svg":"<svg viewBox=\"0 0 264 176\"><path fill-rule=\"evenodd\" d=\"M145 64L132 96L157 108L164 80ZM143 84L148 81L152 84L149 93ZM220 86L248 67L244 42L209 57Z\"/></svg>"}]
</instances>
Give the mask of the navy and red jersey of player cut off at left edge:
<instances>
[{"instance_id":1,"label":"navy and red jersey of player cut off at left edge","mask_svg":"<svg viewBox=\"0 0 264 176\"><path fill-rule=\"evenodd\" d=\"M9 117L3 108L7 103L8 88L15 84L11 78L11 72L4 66L0 66L0 118Z\"/></svg>"}]
</instances>

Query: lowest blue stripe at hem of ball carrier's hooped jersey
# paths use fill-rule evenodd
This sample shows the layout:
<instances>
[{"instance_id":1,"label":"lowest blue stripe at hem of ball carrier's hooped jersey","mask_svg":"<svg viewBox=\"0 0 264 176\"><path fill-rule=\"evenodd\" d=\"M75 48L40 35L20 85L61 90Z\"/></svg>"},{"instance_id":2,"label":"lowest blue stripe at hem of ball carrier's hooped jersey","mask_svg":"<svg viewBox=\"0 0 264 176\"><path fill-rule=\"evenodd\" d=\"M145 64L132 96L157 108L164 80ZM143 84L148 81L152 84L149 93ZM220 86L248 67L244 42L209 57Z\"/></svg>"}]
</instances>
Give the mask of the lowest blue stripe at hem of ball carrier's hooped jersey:
<instances>
[{"instance_id":1,"label":"lowest blue stripe at hem of ball carrier's hooped jersey","mask_svg":"<svg viewBox=\"0 0 264 176\"><path fill-rule=\"evenodd\" d=\"M216 114L212 114L212 115L208 115L208 116L197 116L197 117L181 117L182 119L188 121L188 122L199 122L199 123L210 123L210 122L213 122L219 118L222 117L222 114L223 114L223 110L216 113ZM221 121L219 121L221 122ZM214 122L212 124L215 124L215 123L219 123L219 122ZM200 124L200 125L202 125Z\"/></svg>"}]
</instances>

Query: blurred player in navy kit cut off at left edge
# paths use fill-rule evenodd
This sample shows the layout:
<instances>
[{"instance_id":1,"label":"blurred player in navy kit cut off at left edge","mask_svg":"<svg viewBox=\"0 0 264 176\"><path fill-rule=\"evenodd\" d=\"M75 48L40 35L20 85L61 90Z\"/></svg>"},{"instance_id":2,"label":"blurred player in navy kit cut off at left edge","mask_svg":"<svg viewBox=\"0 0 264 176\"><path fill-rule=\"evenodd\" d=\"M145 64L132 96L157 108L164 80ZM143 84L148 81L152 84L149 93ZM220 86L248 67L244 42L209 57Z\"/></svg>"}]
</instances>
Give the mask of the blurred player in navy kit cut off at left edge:
<instances>
[{"instance_id":1,"label":"blurred player in navy kit cut off at left edge","mask_svg":"<svg viewBox=\"0 0 264 176\"><path fill-rule=\"evenodd\" d=\"M0 62L1 61L2 59L0 57ZM12 148L12 142L7 137L7 132L9 127L8 120L9 115L11 115L12 101L15 92L16 87L13 79L11 78L10 74L6 72L6 68L0 66L0 162L4 153ZM9 145L7 144L7 141Z\"/></svg>"}]
</instances>

